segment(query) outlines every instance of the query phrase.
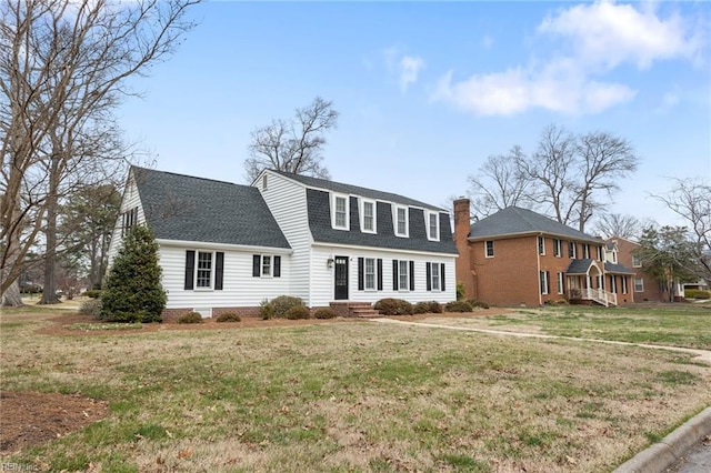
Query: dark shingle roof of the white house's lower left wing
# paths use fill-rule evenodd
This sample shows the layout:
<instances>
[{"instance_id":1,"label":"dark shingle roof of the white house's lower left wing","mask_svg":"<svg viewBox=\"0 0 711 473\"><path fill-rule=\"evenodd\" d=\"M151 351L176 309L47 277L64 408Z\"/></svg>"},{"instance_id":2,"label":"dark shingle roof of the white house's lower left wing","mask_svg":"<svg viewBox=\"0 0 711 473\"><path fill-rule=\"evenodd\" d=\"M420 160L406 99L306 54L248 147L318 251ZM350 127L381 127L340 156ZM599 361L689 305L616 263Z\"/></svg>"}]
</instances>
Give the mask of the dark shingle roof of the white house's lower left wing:
<instances>
[{"instance_id":1,"label":"dark shingle roof of the white house's lower left wing","mask_svg":"<svg viewBox=\"0 0 711 473\"><path fill-rule=\"evenodd\" d=\"M133 167L157 239L288 249L257 188Z\"/></svg>"}]
</instances>

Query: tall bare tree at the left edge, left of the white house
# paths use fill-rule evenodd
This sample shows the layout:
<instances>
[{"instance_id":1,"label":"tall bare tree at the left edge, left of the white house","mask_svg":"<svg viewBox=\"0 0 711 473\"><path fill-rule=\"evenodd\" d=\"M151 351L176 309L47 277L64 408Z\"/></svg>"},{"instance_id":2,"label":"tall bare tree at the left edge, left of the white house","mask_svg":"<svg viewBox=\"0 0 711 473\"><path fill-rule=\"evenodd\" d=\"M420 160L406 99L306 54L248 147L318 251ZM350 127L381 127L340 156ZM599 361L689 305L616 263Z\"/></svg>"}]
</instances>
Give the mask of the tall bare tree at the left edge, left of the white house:
<instances>
[{"instance_id":1,"label":"tall bare tree at the left edge, left of the white house","mask_svg":"<svg viewBox=\"0 0 711 473\"><path fill-rule=\"evenodd\" d=\"M79 137L133 93L126 79L172 52L192 27L183 18L197 0L1 1L0 293L18 304L6 291L40 233L53 233L59 190L87 157Z\"/></svg>"}]
</instances>

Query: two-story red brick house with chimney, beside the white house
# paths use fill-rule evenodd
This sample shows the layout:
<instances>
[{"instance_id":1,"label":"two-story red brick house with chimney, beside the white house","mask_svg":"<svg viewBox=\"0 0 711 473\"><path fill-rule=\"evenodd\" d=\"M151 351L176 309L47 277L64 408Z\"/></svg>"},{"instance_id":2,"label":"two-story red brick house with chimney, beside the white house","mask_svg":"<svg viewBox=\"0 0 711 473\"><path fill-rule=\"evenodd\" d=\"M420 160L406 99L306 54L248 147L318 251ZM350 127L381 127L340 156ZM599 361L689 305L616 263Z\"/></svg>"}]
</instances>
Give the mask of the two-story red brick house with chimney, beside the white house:
<instances>
[{"instance_id":1,"label":"two-story red brick house with chimney, beside the white house","mask_svg":"<svg viewBox=\"0 0 711 473\"><path fill-rule=\"evenodd\" d=\"M497 305L633 301L633 272L605 262L601 239L530 210L509 207L470 223L470 201L460 199L454 242L457 281L469 299Z\"/></svg>"}]
</instances>

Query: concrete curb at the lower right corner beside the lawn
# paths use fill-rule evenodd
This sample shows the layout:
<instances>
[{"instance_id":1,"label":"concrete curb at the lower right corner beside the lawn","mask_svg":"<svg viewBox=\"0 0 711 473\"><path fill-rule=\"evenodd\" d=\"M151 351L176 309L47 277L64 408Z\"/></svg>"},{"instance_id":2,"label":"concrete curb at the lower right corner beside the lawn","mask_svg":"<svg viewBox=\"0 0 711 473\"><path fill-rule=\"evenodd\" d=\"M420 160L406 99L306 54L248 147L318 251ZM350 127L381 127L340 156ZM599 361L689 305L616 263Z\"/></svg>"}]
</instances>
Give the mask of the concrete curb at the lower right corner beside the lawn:
<instances>
[{"instance_id":1,"label":"concrete curb at the lower right corner beside the lawn","mask_svg":"<svg viewBox=\"0 0 711 473\"><path fill-rule=\"evenodd\" d=\"M662 441L638 453L613 473L662 473L704 435L711 433L711 407L684 422Z\"/></svg>"}]
</instances>

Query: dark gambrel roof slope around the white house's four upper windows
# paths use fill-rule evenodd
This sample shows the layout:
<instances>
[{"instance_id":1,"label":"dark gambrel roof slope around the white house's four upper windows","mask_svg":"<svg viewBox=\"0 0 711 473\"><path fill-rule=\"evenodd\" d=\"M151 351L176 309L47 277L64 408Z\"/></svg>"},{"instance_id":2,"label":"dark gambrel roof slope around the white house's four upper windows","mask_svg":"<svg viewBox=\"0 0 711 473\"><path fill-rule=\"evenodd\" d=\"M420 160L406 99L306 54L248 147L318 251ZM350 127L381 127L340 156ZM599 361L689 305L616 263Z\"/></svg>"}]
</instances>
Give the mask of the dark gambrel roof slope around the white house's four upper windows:
<instances>
[{"instance_id":1,"label":"dark gambrel roof slope around the white house's four upper windows","mask_svg":"<svg viewBox=\"0 0 711 473\"><path fill-rule=\"evenodd\" d=\"M349 231L334 230L331 227L331 205L327 191L307 189L307 205L309 227L313 240L317 242L458 254L449 215L444 212L439 214L440 241L430 241L427 238L424 211L422 209L409 208L409 238L400 238L394 234L392 205L388 202L379 201L375 204L375 227L378 231L375 234L360 231L358 200L354 197L350 198Z\"/></svg>"}]
</instances>

